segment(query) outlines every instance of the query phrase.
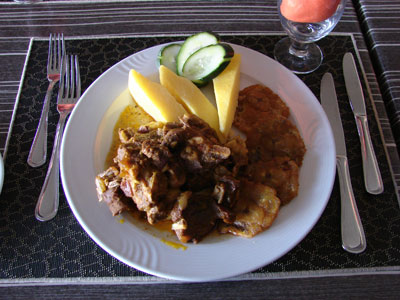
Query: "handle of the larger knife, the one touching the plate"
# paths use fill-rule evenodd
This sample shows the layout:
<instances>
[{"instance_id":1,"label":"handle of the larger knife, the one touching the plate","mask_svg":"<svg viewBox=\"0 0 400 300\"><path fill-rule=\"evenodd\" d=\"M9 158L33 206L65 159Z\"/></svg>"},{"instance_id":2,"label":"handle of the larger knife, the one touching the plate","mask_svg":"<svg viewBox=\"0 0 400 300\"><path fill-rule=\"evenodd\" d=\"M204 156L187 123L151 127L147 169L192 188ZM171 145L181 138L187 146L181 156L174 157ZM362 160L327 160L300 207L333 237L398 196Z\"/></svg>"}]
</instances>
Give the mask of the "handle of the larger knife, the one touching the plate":
<instances>
[{"instance_id":1,"label":"handle of the larger knife, the one touching the plate","mask_svg":"<svg viewBox=\"0 0 400 300\"><path fill-rule=\"evenodd\" d=\"M340 183L342 247L350 253L361 253L367 243L351 186L347 157L336 156L336 166Z\"/></svg>"}]
</instances>

